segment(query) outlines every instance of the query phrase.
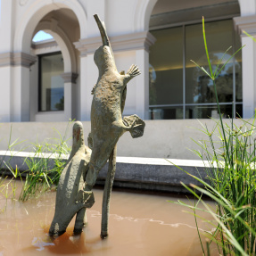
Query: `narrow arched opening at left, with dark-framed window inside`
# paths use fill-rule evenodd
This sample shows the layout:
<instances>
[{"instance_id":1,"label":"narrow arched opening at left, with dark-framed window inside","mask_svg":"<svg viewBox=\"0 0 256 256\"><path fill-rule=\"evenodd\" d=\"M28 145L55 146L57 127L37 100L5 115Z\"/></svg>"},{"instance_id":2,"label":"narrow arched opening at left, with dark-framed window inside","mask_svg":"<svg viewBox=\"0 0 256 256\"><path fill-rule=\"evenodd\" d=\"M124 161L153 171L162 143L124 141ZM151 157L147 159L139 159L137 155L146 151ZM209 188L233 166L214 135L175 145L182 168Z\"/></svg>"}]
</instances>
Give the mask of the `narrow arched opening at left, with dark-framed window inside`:
<instances>
[{"instance_id":1,"label":"narrow arched opening at left, with dark-framed window inside","mask_svg":"<svg viewBox=\"0 0 256 256\"><path fill-rule=\"evenodd\" d=\"M80 37L78 19L67 8L48 12L37 24L30 54L30 120L54 121L75 118L72 95L77 88L78 56L73 42ZM40 39L41 38L41 39Z\"/></svg>"}]
</instances>

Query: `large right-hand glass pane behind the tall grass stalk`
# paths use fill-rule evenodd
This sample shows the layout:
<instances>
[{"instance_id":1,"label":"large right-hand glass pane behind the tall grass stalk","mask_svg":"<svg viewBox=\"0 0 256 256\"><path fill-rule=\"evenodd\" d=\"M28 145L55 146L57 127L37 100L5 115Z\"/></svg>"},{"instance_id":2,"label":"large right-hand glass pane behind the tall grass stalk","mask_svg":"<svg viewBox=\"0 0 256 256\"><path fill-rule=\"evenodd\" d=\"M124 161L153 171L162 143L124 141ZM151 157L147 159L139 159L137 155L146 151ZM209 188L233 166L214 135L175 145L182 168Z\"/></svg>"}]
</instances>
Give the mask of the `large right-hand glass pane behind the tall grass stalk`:
<instances>
[{"instance_id":1,"label":"large right-hand glass pane behind the tall grass stalk","mask_svg":"<svg viewBox=\"0 0 256 256\"><path fill-rule=\"evenodd\" d=\"M233 21L208 22L205 24L205 31L211 66L214 72L222 55L228 47L233 45ZM231 49L221 64L225 63L232 54ZM196 67L191 60L209 73L211 72L204 50L202 24L186 26L186 103L215 103L216 97L211 78ZM221 67L221 64L219 67ZM216 79L216 87L219 103L231 103L233 101L232 60L219 73L219 77Z\"/></svg>"}]
</instances>

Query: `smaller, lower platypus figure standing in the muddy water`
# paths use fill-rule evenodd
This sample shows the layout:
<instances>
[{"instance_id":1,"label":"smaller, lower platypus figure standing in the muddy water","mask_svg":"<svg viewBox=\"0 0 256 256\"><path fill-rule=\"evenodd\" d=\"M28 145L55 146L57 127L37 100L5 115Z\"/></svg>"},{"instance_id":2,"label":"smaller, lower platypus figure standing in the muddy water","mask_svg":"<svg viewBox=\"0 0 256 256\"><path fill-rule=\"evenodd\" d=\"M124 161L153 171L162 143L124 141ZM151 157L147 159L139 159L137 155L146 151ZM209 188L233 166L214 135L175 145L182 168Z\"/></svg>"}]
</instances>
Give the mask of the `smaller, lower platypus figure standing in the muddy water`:
<instances>
[{"instance_id":1,"label":"smaller, lower platypus figure standing in the muddy water","mask_svg":"<svg viewBox=\"0 0 256 256\"><path fill-rule=\"evenodd\" d=\"M94 203L93 195L87 200L77 200L87 175L91 150L85 145L82 123L73 126L73 144L70 158L59 180L56 193L54 220L49 235L62 235L71 219L77 214L74 233L81 233L86 222L86 209Z\"/></svg>"}]
</instances>

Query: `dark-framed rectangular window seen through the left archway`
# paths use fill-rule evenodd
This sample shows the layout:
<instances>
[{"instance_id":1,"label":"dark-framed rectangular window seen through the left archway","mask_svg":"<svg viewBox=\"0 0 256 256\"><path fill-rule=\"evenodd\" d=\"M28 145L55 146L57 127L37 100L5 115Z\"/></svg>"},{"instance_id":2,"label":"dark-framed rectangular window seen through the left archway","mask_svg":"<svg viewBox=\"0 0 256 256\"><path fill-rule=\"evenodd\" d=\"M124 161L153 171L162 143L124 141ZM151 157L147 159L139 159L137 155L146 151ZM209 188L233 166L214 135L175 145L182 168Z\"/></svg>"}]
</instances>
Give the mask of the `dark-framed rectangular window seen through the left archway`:
<instances>
[{"instance_id":1,"label":"dark-framed rectangular window seen through the left archway","mask_svg":"<svg viewBox=\"0 0 256 256\"><path fill-rule=\"evenodd\" d=\"M62 53L39 55L39 111L64 110Z\"/></svg>"}]
</instances>

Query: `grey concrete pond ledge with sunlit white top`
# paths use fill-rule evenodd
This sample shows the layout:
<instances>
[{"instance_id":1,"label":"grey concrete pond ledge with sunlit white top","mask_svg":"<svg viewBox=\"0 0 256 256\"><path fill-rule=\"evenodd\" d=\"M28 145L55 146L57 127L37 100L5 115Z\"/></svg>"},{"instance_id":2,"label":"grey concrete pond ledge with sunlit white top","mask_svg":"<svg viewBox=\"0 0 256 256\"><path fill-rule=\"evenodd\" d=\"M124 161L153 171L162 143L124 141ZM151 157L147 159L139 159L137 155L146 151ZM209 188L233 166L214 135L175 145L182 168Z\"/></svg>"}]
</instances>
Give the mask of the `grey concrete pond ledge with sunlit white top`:
<instances>
[{"instance_id":1,"label":"grey concrete pond ledge with sunlit white top","mask_svg":"<svg viewBox=\"0 0 256 256\"><path fill-rule=\"evenodd\" d=\"M15 169L16 166L21 171L28 171L29 167L26 159L34 157L34 161L44 159L49 168L54 167L54 158L50 153L35 155L35 153L24 152L4 152L0 151L0 161L2 169L6 169L4 162ZM62 155L62 161L66 161L68 155ZM166 192L186 192L180 185L182 181L186 185L194 184L201 186L194 178L186 172L206 180L205 166L203 161L178 160L178 159L159 159L159 158L140 158L140 157L117 157L117 168L114 186L134 188L141 190L166 191ZM107 176L108 164L100 171L97 184L103 185Z\"/></svg>"}]
</instances>

